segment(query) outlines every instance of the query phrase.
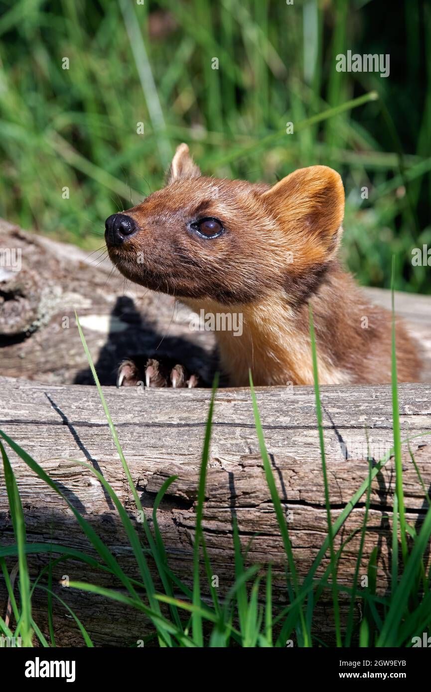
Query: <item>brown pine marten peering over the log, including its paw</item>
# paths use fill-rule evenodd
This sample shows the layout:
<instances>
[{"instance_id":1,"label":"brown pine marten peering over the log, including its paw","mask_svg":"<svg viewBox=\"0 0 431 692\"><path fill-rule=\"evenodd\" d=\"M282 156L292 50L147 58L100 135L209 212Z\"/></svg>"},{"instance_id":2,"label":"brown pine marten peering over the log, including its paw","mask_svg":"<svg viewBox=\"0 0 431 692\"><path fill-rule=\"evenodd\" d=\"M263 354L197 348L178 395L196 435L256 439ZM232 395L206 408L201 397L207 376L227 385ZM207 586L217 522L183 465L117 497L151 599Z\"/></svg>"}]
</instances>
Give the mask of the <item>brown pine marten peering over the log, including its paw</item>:
<instances>
[{"instance_id":1,"label":"brown pine marten peering over the log, including its paw","mask_svg":"<svg viewBox=\"0 0 431 692\"><path fill-rule=\"evenodd\" d=\"M179 145L166 187L106 221L114 265L137 284L175 295L199 313L240 313L243 333L218 331L231 386L313 384L308 302L319 381L387 383L392 316L370 304L337 260L344 188L322 165L275 185L202 176ZM397 320L399 381L418 381L417 349ZM142 372L145 371L145 372ZM185 368L124 361L118 384L195 386Z\"/></svg>"}]
</instances>

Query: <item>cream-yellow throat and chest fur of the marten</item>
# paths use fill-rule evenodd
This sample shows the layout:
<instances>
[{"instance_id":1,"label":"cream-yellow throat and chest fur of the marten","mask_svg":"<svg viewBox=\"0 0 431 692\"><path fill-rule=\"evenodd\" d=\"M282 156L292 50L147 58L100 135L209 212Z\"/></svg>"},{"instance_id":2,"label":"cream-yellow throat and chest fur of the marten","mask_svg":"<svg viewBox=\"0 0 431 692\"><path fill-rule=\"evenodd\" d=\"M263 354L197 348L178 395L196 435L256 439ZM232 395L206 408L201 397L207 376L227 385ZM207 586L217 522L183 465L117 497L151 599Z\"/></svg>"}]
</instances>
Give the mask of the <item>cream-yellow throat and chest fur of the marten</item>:
<instances>
[{"instance_id":1,"label":"cream-yellow throat and chest fur of the marten","mask_svg":"<svg viewBox=\"0 0 431 692\"><path fill-rule=\"evenodd\" d=\"M249 368L256 386L313 384L313 361L310 335L304 325L299 328L297 313L285 298L274 295L254 304L227 306L206 298L179 298L195 313L240 313L242 334L215 331L222 372L229 375L234 387L249 385ZM229 320L234 322L234 319ZM327 357L317 355L319 381L341 384L347 373L337 369Z\"/></svg>"}]
</instances>

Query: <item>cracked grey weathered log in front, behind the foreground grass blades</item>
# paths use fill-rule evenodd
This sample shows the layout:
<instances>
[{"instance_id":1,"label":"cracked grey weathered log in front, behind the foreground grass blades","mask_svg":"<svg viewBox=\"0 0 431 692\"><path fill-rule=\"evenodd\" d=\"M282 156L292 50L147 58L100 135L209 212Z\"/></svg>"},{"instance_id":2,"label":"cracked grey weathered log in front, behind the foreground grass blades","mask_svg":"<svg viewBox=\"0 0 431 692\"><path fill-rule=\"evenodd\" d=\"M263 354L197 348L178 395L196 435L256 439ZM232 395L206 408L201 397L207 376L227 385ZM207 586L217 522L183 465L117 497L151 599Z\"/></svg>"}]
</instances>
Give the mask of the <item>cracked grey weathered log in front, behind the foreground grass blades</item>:
<instances>
[{"instance_id":1,"label":"cracked grey weathered log in front, behind the foreground grass blades","mask_svg":"<svg viewBox=\"0 0 431 692\"><path fill-rule=\"evenodd\" d=\"M0 426L28 451L58 482L73 505L85 514L127 574L137 577L130 545L112 502L90 471L75 459L87 460L103 473L136 520L132 493L112 443L96 388L78 385L43 385L24 380L0 380ZM204 439L210 392L194 390L142 390L104 388L125 458L130 466L146 515L151 521L155 493L170 475L170 486L159 509L159 525L168 552L171 570L191 584L195 502L200 455ZM315 399L311 388L259 388L258 406L267 449L283 507L289 512L289 529L294 560L300 576L313 563L327 532L326 509ZM369 453L380 459L392 446L392 403L387 386L331 386L322 389L324 438L330 484L331 516L340 515L353 493L369 473ZM419 435L412 441L416 464L429 491L431 486L431 445L424 434L430 428L431 385L400 387L403 437ZM410 455L403 446L405 509L407 520L419 528L427 503ZM24 506L28 542L50 541L82 549L94 555L87 539L64 501L35 477L28 466L11 453ZM347 458L346 458L347 457ZM377 585L387 590L391 574L392 506L395 473L392 460L373 481L368 530L360 575L374 546L378 546ZM364 499L353 509L335 547L360 527ZM240 540L249 543L247 563L274 565L274 607L285 605L283 581L285 555L274 516L270 492L258 454L250 392L247 389L219 390L214 410L209 472L204 505L204 538L213 574L218 576L220 596L234 581L233 521L238 521ZM139 528L139 523L136 524ZM0 532L2 545L13 543L12 526L3 478L0 478ZM353 581L360 536L353 535L344 547L338 580ZM429 556L425 556L426 559ZM32 574L46 565L46 555L30 559ZM10 561L12 568L14 561ZM322 568L328 565L326 555ZM322 574L320 568L317 574ZM64 575L111 587L112 578L82 567L78 561L59 563L54 569L56 592L78 614L94 642L125 646L148 632L148 623L137 612L91 594L62 588ZM202 579L205 583L205 579ZM6 610L6 594L1 590L0 612ZM204 589L205 592L205 589ZM316 632L331 636L333 621L329 594L316 609ZM35 592L35 620L46 631L46 594ZM342 602L342 616L346 614ZM356 613L360 617L360 608ZM58 644L80 646L82 639L73 620L60 606L55 607Z\"/></svg>"}]
</instances>

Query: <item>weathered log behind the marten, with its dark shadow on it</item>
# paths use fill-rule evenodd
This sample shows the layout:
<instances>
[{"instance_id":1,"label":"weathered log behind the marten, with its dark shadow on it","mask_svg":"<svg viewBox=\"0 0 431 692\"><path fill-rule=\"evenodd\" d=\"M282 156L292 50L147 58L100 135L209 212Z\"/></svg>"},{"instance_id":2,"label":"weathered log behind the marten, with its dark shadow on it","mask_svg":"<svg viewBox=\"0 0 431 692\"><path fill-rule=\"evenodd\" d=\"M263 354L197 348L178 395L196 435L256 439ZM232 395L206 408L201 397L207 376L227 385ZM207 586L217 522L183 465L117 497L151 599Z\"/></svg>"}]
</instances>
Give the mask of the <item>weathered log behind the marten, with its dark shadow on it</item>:
<instances>
[{"instance_id":1,"label":"weathered log behind the marten, with its dark shadow on it","mask_svg":"<svg viewBox=\"0 0 431 692\"><path fill-rule=\"evenodd\" d=\"M130 284L103 251L26 233L0 219L0 259L20 255L21 271L0 262L1 374L51 384L91 384L75 327L78 311L100 382L113 385L116 367L134 354L176 358L211 381L213 334L191 331L191 313L167 295ZM390 308L389 291L364 289ZM431 299L396 294L396 311L424 351L423 381L431 381Z\"/></svg>"}]
</instances>

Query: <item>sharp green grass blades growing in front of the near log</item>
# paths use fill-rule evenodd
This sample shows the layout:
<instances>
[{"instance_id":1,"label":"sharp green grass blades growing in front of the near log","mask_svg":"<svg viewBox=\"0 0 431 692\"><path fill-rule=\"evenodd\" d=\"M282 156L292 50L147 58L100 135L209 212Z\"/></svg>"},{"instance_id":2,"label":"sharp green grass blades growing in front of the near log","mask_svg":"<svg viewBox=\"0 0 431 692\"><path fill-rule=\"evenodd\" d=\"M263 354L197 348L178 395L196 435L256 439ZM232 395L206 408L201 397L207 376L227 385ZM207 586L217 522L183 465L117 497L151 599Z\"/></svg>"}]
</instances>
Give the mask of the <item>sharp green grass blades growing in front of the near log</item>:
<instances>
[{"instance_id":1,"label":"sharp green grass blades growing in front of the near log","mask_svg":"<svg viewBox=\"0 0 431 692\"><path fill-rule=\"evenodd\" d=\"M393 267L394 273L394 267ZM78 321L78 318L77 318ZM78 321L78 328L79 321ZM313 327L313 313L310 310L310 337L313 355L313 367L315 372L315 401L317 413L317 432L322 455L322 474L324 480L324 493L326 502L326 514L328 519L328 536L324 539L322 546L317 551L313 565L308 574L304 577L299 575L295 562L294 546L290 537L288 523L285 518L285 511L288 508L288 500L281 500L279 491L276 487L272 464L265 446L265 437L261 425L258 411L256 393L254 391L252 376L250 374L250 392L252 397L252 407L254 411L254 421L256 435L258 438L265 478L270 489L274 516L279 527L281 540L285 552L285 590L288 596L288 605L276 612L272 601L274 572L271 565L247 565L247 550L241 547L238 525L233 520L232 536L234 539L234 581L231 588L223 597L211 584L211 555L206 549L204 531L202 529L202 518L204 516L204 498L206 484L206 469L209 458L209 444L211 440L211 427L213 409L216 405L215 393L217 381L214 382L209 413L202 449L202 464L200 468L200 480L197 488L197 502L195 508L195 538L193 547L193 586L189 588L182 579L179 579L172 570L168 562L168 551L164 545L163 536L157 521L157 510L170 484L175 480L175 476L168 478L161 487L152 511L153 526L150 527L146 520L139 495L133 484L127 462L121 449L114 424L109 415L109 410L103 390L98 383L98 377L91 356L85 343L85 338L80 330L82 344L85 348L91 371L100 394L100 401L105 410L105 415L116 444L121 463L125 472L134 501L136 504L136 515L141 516L143 521L133 522L125 507L121 504L112 486L105 480L103 475L96 471L85 462L77 462L85 466L87 470L94 474L100 484L112 499L118 518L121 521L127 539L132 549L132 554L136 560L137 579L127 576L123 571L117 558L103 540L96 534L91 524L82 514L69 502L67 496L55 482L46 474L43 468L37 464L35 459L28 455L19 445L15 443L7 434L0 430L0 451L3 459L3 469L8 489L8 499L10 505L10 516L15 533L15 545L0 547L0 564L3 575L5 576L6 590L10 597L14 626L6 623L0 617L0 631L6 637L21 636L24 646L39 644L40 646L55 646L55 631L53 627L53 610L55 607L66 608L67 612L73 617L78 631L82 635L83 643L86 646L93 646L91 637L85 629L76 613L74 613L67 603L64 603L53 589L53 567L58 563L75 559L83 565L91 565L94 569L101 570L105 574L112 576L120 588L105 588L97 583L71 582L71 588L83 590L85 592L98 594L118 601L123 605L134 608L146 614L152 626L152 632L148 633L145 641L156 640L161 647L186 646L188 648L226 647L231 645L244 647L282 647L288 641L293 640L297 646L332 646L334 641L336 646L351 646L356 644L364 647L386 647L386 646L411 646L412 637L421 635L431 626L431 590L430 579L431 570L428 568L428 547L431 536L431 507L428 501L428 511L423 520L423 524L416 532L416 529L409 525L403 507L403 482L401 466L401 444L408 442L412 465L419 477L419 483L424 489L424 499L427 501L427 493L423 485L423 479L419 473L419 468L414 461L414 455L410 448L410 440L401 440L399 418L398 418L398 385L396 381L396 361L395 361L395 341L392 349L392 367L394 379L392 381L392 398L394 402L394 447L374 464L362 482L360 488L354 493L353 497L342 511L339 512L337 519L331 517L330 496L328 475L326 472L326 457L324 450L323 435L323 416L320 401L320 391L317 370L317 349ZM414 439L415 436L410 439ZM417 437L417 436L416 436ZM28 466L42 479L55 493L58 493L64 502L67 503L73 512L83 534L91 543L94 555L86 554L77 549L63 547L54 543L27 543L24 524L24 513L19 498L19 488L12 466L6 450L9 446ZM367 533L367 519L371 494L371 483L376 478L389 458L395 455L396 470L396 495L394 497L394 513L392 518L392 583L384 594L378 594L376 582L376 565L378 559L377 547L371 552L368 562L367 588L359 588L358 576L360 570L363 572L363 547ZM336 547L335 538L340 534L340 530L345 526L346 519L366 494L365 512L362 527L353 531L352 534ZM139 514L138 514L139 513ZM345 585L338 580L340 572L339 563L344 549L349 545L356 533L360 532L360 547L355 567L353 583ZM398 561L398 541L401 541L403 561ZM46 555L47 563L39 574L30 577L27 565L28 554ZM329 554L329 563L324 568L323 563L326 555ZM19 599L15 598L12 581L9 579L6 558L18 556L19 564ZM55 556L55 558L53 558ZM206 582L202 581L202 571L206 575ZM320 576L317 576L317 574ZM156 579L155 579L156 577ZM159 586L156 588L155 583ZM32 616L31 601L35 590L43 590L47 594L47 609L49 621L49 640L34 621ZM178 594L182 594L179 597ZM331 594L333 604L333 637L322 639L319 631L315 628L315 609L322 597ZM208 598L209 597L209 598ZM340 621L339 603L340 599L349 603L349 614L344 624ZM355 603L362 603L362 621L355 623L353 612ZM161 604L167 605L168 610L162 610ZM344 630L344 641L342 632Z\"/></svg>"}]
</instances>

